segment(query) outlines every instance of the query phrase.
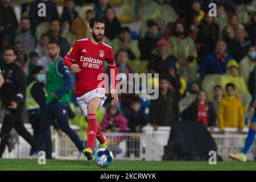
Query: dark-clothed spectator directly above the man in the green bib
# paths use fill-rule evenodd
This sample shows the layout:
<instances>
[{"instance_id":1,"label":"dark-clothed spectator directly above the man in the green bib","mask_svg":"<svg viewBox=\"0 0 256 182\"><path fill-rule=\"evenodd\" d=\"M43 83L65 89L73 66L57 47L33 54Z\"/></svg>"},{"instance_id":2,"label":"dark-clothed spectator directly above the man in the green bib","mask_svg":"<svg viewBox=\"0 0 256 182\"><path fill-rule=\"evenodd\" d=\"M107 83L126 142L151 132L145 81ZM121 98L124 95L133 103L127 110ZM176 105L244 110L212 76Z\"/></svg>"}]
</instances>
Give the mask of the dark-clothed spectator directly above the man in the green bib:
<instances>
[{"instance_id":1,"label":"dark-clothed spectator directly above the man in the green bib","mask_svg":"<svg viewBox=\"0 0 256 182\"><path fill-rule=\"evenodd\" d=\"M60 56L64 57L67 54L70 45L68 41L60 35L59 20L52 20L51 27L50 30L47 32L47 35L49 36L51 42L57 42L57 44L60 45Z\"/></svg>"}]
</instances>

